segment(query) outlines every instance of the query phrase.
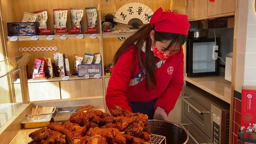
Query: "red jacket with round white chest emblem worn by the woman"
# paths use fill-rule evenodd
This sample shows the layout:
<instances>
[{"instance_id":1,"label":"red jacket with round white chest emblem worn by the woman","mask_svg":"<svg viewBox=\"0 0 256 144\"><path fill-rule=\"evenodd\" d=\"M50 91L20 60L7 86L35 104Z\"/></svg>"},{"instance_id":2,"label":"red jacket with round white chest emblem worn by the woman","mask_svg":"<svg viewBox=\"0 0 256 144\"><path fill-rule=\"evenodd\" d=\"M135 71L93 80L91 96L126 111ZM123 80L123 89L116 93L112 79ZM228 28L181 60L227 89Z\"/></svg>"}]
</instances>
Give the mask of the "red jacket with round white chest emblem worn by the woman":
<instances>
[{"instance_id":1,"label":"red jacket with round white chest emblem worn by the woman","mask_svg":"<svg viewBox=\"0 0 256 144\"><path fill-rule=\"evenodd\" d=\"M168 114L174 108L183 87L183 49L165 62L155 58L156 86L155 90L147 90L137 54L134 57L135 46L131 45L127 52L121 54L113 68L106 93L107 106L109 109L119 106L132 111L128 101L149 102L157 99L154 107L164 108ZM141 53L142 58L145 58L145 53Z\"/></svg>"}]
</instances>

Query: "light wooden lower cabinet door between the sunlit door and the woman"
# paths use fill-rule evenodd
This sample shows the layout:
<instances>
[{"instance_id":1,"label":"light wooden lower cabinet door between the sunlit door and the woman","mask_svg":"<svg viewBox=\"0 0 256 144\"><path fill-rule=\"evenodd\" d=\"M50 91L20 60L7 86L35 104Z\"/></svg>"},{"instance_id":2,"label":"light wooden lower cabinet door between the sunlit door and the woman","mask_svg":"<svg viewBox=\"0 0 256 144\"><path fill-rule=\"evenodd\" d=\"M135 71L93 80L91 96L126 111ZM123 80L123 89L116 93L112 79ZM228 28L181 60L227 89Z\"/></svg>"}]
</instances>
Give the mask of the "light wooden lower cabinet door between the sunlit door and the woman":
<instances>
[{"instance_id":1,"label":"light wooden lower cabinet door between the sunlit door and the woman","mask_svg":"<svg viewBox=\"0 0 256 144\"><path fill-rule=\"evenodd\" d=\"M103 96L103 79L60 81L61 98Z\"/></svg>"}]
</instances>

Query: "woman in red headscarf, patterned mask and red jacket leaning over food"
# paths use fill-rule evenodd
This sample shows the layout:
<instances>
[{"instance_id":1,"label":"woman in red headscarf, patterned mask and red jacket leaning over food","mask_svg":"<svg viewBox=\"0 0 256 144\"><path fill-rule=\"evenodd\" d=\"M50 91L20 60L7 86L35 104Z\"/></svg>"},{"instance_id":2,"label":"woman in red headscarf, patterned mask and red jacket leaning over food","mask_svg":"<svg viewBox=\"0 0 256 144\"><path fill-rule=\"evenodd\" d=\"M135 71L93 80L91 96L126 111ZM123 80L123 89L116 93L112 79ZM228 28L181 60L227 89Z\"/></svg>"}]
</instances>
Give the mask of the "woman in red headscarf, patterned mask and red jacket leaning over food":
<instances>
[{"instance_id":1,"label":"woman in red headscarf, patterned mask and red jacket leaning over food","mask_svg":"<svg viewBox=\"0 0 256 144\"><path fill-rule=\"evenodd\" d=\"M167 120L183 87L183 48L190 24L186 15L155 11L150 24L130 36L114 56L106 103L149 119Z\"/></svg>"}]
</instances>

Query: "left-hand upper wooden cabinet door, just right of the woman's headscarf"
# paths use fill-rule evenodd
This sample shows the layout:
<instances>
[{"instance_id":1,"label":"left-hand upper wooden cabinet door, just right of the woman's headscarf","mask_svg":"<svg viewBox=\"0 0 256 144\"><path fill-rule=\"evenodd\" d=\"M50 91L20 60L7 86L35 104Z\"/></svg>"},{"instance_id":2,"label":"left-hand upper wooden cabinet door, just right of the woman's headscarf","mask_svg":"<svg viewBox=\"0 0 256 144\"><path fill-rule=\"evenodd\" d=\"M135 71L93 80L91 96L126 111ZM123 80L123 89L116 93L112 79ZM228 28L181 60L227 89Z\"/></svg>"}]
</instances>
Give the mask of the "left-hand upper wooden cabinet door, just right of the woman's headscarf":
<instances>
[{"instance_id":1,"label":"left-hand upper wooden cabinet door, just right of the woman's headscarf","mask_svg":"<svg viewBox=\"0 0 256 144\"><path fill-rule=\"evenodd\" d=\"M207 17L208 0L188 0L189 19Z\"/></svg>"}]
</instances>

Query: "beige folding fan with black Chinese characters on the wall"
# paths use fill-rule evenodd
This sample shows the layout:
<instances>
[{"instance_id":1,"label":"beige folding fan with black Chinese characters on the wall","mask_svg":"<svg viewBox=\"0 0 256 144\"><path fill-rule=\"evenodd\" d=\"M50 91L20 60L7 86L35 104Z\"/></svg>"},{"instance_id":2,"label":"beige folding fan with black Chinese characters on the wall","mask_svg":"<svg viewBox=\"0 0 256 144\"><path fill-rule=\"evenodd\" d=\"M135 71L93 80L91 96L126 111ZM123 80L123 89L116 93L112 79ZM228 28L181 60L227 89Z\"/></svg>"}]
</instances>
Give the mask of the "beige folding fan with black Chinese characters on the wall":
<instances>
[{"instance_id":1,"label":"beige folding fan with black Chinese characters on the wall","mask_svg":"<svg viewBox=\"0 0 256 144\"><path fill-rule=\"evenodd\" d=\"M142 3L132 2L125 4L115 13L115 22L128 24L132 29L149 23L153 15L152 9Z\"/></svg>"}]
</instances>

